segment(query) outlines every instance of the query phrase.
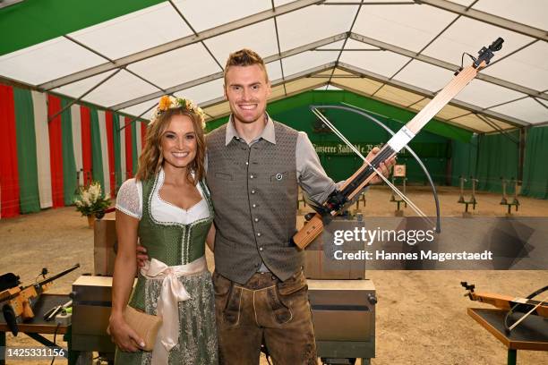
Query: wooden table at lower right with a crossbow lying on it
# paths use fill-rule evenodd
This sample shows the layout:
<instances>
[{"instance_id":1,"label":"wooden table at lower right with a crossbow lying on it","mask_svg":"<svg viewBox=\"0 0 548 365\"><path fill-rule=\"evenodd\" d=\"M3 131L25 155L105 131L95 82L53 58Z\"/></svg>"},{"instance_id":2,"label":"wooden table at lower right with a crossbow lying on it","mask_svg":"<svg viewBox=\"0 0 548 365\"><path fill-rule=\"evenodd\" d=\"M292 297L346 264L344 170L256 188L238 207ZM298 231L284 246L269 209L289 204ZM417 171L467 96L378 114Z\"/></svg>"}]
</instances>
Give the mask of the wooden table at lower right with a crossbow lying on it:
<instances>
[{"instance_id":1,"label":"wooden table at lower right with a crossbow lying on it","mask_svg":"<svg viewBox=\"0 0 548 365\"><path fill-rule=\"evenodd\" d=\"M515 365L518 350L548 351L548 320L539 316L525 318L509 334L504 329L506 310L468 308L468 315L491 332L508 348L508 364ZM511 323L523 313L512 316ZM511 324L510 323L510 324Z\"/></svg>"}]
</instances>

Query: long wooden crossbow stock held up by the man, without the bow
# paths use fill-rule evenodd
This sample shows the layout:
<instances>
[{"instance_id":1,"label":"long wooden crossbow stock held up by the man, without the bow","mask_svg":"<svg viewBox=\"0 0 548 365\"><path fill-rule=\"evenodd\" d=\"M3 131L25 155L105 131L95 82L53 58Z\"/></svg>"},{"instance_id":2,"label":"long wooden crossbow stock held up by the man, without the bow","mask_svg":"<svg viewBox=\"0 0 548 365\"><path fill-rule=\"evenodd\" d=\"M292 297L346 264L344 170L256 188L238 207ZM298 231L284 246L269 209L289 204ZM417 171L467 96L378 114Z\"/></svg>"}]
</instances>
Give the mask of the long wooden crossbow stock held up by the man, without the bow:
<instances>
[{"instance_id":1,"label":"long wooden crossbow stock held up by the man, without the bow","mask_svg":"<svg viewBox=\"0 0 548 365\"><path fill-rule=\"evenodd\" d=\"M479 70L484 68L493 56L493 52L501 49L502 38L497 38L489 47L483 47L479 51L477 58L474 58L473 64L463 70L455 72L456 76L450 83L436 95L430 103L411 119L406 125L394 134L394 136L382 147L379 153L371 162L360 167L347 181L340 187L330 193L328 199L323 203L320 211L315 213L304 224L304 227L293 236L292 241L301 250L304 250L313 240L323 231L322 216L337 216L352 201L352 199L364 191L365 186L377 174L377 168L391 157L394 157L401 149L404 149L415 135L423 129L432 117L447 105L452 98L464 89L467 84L475 78ZM434 227L435 228L435 227Z\"/></svg>"}]
</instances>

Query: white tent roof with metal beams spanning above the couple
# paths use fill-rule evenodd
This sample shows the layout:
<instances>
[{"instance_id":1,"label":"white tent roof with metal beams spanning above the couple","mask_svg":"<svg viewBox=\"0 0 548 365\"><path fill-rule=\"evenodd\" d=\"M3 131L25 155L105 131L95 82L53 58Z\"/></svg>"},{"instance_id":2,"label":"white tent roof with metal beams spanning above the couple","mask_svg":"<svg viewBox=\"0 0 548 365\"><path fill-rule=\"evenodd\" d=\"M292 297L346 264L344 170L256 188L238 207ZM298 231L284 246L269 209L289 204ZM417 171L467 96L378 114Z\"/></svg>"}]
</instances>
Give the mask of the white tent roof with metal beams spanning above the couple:
<instances>
[{"instance_id":1,"label":"white tent roof with metal beams spanning above the couple","mask_svg":"<svg viewBox=\"0 0 548 365\"><path fill-rule=\"evenodd\" d=\"M548 122L546 13L544 0L168 1L2 55L0 76L145 118L171 93L212 119L229 112L228 54L249 47L267 63L272 99L338 88L416 111L463 52L502 37L492 64L437 115L492 132Z\"/></svg>"}]
</instances>

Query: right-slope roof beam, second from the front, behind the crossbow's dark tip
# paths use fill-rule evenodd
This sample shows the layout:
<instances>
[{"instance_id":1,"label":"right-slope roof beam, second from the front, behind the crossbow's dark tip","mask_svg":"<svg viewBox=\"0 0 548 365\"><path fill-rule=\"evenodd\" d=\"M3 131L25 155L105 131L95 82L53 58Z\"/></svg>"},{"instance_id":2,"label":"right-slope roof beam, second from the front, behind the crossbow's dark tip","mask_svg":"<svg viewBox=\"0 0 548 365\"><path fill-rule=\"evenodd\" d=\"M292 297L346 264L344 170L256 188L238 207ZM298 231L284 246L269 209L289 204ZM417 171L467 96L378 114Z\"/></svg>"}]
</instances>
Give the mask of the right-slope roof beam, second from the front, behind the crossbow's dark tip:
<instances>
[{"instance_id":1,"label":"right-slope roof beam, second from the front, behind the crossbow's dark tip","mask_svg":"<svg viewBox=\"0 0 548 365\"><path fill-rule=\"evenodd\" d=\"M449 62L441 61L440 59L431 57L429 55L417 55L416 52L410 51L408 49L398 47L398 46L394 46L394 45L391 45L390 43L382 42L381 40L365 37L365 36L362 36L360 34L356 34L354 32L350 33L350 38L352 38L354 40L357 40L359 42L374 46L374 47L379 47L381 49L386 49L390 52L394 52L394 53L397 53L399 55L405 55L405 56L413 58L415 60L422 61L426 64L433 64L435 66L438 66L438 67L441 67L441 68L444 68L444 69L447 69L447 70L450 70L450 71L453 71L453 72L457 71L458 68L459 68L459 66L456 65L456 64L450 64ZM523 94L527 94L529 97L532 97L532 98L542 98L544 100L548 100L548 95L544 94L541 91L526 88L524 86L515 84L513 82L501 80L499 78L496 78L496 77L493 77L493 76L490 76L490 75L486 75L484 73L478 73L477 76L476 76L476 79L486 81L486 82L491 82L492 84L499 85L503 88L512 89L514 91L518 91L518 92L521 92Z\"/></svg>"}]
</instances>

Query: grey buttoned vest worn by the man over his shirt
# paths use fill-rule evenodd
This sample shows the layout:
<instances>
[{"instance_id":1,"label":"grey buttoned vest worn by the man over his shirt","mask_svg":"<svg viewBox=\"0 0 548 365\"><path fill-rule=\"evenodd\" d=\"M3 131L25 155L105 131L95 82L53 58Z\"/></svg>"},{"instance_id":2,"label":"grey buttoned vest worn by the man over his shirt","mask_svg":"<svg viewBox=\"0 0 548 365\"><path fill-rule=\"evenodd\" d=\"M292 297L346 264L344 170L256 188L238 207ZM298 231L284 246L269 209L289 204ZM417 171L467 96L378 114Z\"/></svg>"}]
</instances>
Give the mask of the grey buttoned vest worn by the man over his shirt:
<instances>
[{"instance_id":1,"label":"grey buttoned vest worn by the man over his shirt","mask_svg":"<svg viewBox=\"0 0 548 365\"><path fill-rule=\"evenodd\" d=\"M245 284L261 262L287 280L304 264L290 239L296 232L298 132L274 122L276 143L225 145L227 125L207 136L207 183L215 207L215 267Z\"/></svg>"}]
</instances>

